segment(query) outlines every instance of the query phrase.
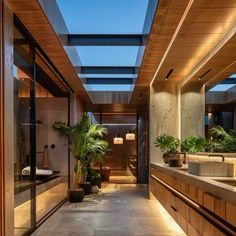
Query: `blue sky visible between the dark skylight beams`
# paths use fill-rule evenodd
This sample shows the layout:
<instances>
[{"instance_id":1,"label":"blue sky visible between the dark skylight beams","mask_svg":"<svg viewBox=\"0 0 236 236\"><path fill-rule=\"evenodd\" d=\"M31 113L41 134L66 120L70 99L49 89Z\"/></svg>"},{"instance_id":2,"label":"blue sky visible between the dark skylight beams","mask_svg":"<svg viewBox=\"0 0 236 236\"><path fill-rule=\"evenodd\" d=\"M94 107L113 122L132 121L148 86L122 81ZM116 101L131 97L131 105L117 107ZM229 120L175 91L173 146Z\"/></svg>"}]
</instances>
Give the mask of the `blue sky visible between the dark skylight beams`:
<instances>
[{"instance_id":1,"label":"blue sky visible between the dark skylight beams","mask_svg":"<svg viewBox=\"0 0 236 236\"><path fill-rule=\"evenodd\" d=\"M149 2L149 0L56 1L70 34L142 34ZM82 66L139 66L136 65L138 46L77 46L76 50ZM111 75L111 77L122 77L122 75ZM88 91L130 91L133 86L85 85L85 88Z\"/></svg>"}]
</instances>

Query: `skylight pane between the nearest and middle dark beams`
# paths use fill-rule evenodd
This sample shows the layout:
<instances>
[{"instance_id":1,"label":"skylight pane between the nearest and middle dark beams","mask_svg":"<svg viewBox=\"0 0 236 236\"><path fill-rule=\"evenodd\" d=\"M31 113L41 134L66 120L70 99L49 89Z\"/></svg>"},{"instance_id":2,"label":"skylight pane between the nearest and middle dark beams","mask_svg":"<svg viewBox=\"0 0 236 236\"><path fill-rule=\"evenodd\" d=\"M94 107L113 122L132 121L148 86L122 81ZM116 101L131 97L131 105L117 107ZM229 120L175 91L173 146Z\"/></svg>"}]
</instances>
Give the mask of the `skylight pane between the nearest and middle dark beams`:
<instances>
[{"instance_id":1,"label":"skylight pane between the nearest and middle dark beams","mask_svg":"<svg viewBox=\"0 0 236 236\"><path fill-rule=\"evenodd\" d=\"M76 47L82 66L134 66L138 47L90 46Z\"/></svg>"}]
</instances>

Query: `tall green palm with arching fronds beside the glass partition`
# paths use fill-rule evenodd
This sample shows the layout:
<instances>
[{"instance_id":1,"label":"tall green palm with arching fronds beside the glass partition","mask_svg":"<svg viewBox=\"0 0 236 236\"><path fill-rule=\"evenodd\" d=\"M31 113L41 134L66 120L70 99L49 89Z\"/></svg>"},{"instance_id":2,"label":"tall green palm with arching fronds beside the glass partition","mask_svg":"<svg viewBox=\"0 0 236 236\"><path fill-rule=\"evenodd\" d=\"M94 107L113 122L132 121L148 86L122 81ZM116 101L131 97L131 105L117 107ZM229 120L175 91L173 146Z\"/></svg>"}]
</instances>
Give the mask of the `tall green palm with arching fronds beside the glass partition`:
<instances>
[{"instance_id":1,"label":"tall green palm with arching fronds beside the glass partition","mask_svg":"<svg viewBox=\"0 0 236 236\"><path fill-rule=\"evenodd\" d=\"M84 114L79 123L68 126L62 122L55 122L53 128L60 136L69 137L69 150L74 158L74 189L78 188L79 174L81 182L85 182L90 163L100 161L108 150L108 143L103 140L107 129L102 125L92 124L89 117Z\"/></svg>"}]
</instances>

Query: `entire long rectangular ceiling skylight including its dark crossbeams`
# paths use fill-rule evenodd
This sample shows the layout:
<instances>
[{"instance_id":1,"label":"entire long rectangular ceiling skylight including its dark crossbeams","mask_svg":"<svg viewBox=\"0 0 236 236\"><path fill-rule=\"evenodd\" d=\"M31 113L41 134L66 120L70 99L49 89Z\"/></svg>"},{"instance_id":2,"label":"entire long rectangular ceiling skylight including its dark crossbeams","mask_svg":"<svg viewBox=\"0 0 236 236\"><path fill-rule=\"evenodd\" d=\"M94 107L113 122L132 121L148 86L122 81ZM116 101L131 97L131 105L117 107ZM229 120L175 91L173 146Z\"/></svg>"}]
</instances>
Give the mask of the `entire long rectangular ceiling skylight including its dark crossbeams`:
<instances>
[{"instance_id":1,"label":"entire long rectangular ceiling skylight including its dark crossbeams","mask_svg":"<svg viewBox=\"0 0 236 236\"><path fill-rule=\"evenodd\" d=\"M157 0L56 2L68 29L64 49L92 101L98 102L96 91L120 92L104 95L104 102L108 97L129 101Z\"/></svg>"}]
</instances>

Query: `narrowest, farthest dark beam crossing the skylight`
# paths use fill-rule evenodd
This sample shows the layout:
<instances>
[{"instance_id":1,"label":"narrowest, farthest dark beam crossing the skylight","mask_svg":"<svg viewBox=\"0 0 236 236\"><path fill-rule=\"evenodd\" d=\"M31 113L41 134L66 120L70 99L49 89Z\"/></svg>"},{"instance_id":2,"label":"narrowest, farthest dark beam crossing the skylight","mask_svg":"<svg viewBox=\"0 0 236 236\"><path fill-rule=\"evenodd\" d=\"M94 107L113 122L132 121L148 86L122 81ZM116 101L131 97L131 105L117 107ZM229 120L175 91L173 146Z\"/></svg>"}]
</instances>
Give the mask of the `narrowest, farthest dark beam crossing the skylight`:
<instances>
[{"instance_id":1,"label":"narrowest, farthest dark beam crossing the skylight","mask_svg":"<svg viewBox=\"0 0 236 236\"><path fill-rule=\"evenodd\" d=\"M133 84L133 78L86 78L86 84Z\"/></svg>"}]
</instances>

